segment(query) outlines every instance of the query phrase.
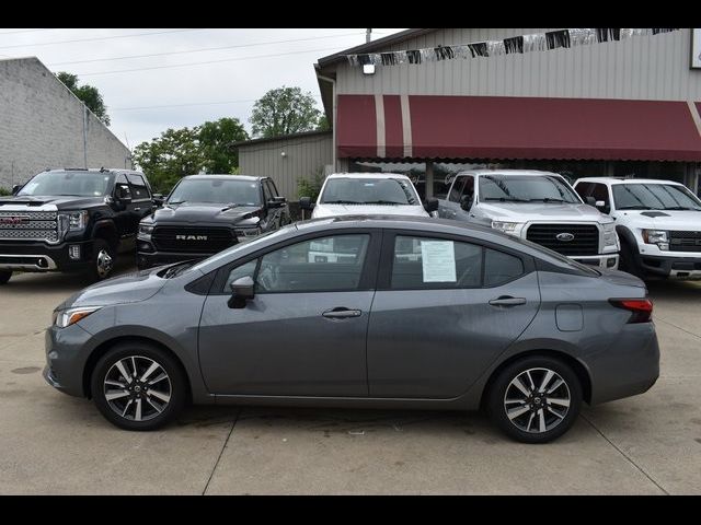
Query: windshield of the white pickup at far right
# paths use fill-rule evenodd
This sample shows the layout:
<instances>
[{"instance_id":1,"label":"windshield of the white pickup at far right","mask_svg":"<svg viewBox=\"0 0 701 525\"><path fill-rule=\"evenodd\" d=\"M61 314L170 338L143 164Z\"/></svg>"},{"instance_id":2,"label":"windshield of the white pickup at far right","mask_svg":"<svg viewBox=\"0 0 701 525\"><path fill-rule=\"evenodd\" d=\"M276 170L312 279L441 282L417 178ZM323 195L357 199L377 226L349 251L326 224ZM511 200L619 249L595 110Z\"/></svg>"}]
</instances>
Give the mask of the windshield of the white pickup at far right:
<instances>
[{"instance_id":1,"label":"windshield of the white pickup at far right","mask_svg":"<svg viewBox=\"0 0 701 525\"><path fill-rule=\"evenodd\" d=\"M613 202L617 210L701 211L701 201L685 186L676 184L617 184Z\"/></svg>"}]
</instances>

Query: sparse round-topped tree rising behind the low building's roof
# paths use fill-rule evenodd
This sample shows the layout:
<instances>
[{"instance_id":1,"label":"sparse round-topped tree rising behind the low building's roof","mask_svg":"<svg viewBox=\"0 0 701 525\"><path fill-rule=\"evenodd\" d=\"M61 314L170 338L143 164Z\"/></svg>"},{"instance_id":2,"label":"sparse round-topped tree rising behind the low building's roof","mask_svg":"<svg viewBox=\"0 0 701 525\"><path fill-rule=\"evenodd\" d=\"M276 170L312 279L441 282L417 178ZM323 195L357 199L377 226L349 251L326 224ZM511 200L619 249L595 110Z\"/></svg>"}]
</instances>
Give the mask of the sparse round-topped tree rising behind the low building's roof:
<instances>
[{"instance_id":1,"label":"sparse round-topped tree rising behind the low building's roof","mask_svg":"<svg viewBox=\"0 0 701 525\"><path fill-rule=\"evenodd\" d=\"M255 103L249 121L254 137L271 138L311 131L320 116L311 93L283 86L268 91Z\"/></svg>"}]
</instances>

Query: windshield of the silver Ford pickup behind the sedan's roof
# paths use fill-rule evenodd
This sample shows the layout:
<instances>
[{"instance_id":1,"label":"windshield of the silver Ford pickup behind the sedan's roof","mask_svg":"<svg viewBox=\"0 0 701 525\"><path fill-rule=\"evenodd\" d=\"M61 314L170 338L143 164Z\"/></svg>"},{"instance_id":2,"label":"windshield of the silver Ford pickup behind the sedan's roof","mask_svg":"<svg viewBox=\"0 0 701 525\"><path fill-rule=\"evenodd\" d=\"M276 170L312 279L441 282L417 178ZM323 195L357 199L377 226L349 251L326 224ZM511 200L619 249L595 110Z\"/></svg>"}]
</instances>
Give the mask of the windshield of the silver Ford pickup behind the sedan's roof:
<instances>
[{"instance_id":1,"label":"windshield of the silver Ford pickup behind the sedan's roof","mask_svg":"<svg viewBox=\"0 0 701 525\"><path fill-rule=\"evenodd\" d=\"M480 201L582 203L579 197L556 175L482 175Z\"/></svg>"}]
</instances>

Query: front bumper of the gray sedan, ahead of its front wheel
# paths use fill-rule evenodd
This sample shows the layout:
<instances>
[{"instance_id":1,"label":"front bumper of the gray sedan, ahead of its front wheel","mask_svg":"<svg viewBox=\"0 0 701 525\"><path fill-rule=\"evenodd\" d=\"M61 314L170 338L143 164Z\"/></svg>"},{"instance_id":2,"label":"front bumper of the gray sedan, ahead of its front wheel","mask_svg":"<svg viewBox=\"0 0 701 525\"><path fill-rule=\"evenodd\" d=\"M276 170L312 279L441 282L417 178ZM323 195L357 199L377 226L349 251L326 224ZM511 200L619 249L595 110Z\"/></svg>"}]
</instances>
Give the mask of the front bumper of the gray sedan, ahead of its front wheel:
<instances>
[{"instance_id":1,"label":"front bumper of the gray sedan, ahead of its front wheel","mask_svg":"<svg viewBox=\"0 0 701 525\"><path fill-rule=\"evenodd\" d=\"M92 336L78 324L57 328L50 326L44 336L46 366L44 378L57 390L85 397L83 371L88 362L85 343Z\"/></svg>"}]
</instances>

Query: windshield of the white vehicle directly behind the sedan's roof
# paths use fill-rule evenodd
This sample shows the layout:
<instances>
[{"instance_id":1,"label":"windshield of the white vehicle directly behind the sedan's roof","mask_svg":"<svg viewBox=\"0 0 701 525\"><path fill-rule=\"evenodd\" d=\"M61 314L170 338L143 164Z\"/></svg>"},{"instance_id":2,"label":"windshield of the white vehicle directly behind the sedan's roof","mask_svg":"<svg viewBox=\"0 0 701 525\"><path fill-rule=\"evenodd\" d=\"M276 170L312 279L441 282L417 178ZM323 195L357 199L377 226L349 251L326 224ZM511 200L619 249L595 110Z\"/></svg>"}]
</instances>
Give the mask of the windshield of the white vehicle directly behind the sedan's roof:
<instances>
[{"instance_id":1,"label":"windshield of the white vehicle directly behind the sedan's roof","mask_svg":"<svg viewBox=\"0 0 701 525\"><path fill-rule=\"evenodd\" d=\"M418 203L418 196L409 179L331 178L319 203L413 206Z\"/></svg>"}]
</instances>

